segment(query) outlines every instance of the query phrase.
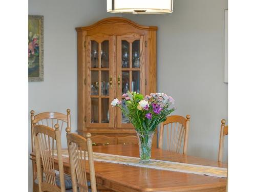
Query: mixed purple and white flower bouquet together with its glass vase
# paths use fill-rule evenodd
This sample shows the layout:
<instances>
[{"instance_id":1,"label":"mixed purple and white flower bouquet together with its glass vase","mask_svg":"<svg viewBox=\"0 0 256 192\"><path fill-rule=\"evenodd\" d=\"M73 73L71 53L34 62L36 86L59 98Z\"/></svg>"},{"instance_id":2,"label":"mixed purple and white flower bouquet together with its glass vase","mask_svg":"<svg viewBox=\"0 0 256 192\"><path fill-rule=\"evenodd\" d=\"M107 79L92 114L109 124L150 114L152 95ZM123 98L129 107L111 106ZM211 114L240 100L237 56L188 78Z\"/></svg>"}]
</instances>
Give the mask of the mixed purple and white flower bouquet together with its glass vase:
<instances>
[{"instance_id":1,"label":"mixed purple and white flower bouquet together with its glass vase","mask_svg":"<svg viewBox=\"0 0 256 192\"><path fill-rule=\"evenodd\" d=\"M125 98L121 101L114 99L111 105L118 106L134 125L140 144L140 160L146 163L151 158L152 138L157 125L176 110L171 107L174 99L164 93L151 93L144 97L129 91L123 94L123 97Z\"/></svg>"}]
</instances>

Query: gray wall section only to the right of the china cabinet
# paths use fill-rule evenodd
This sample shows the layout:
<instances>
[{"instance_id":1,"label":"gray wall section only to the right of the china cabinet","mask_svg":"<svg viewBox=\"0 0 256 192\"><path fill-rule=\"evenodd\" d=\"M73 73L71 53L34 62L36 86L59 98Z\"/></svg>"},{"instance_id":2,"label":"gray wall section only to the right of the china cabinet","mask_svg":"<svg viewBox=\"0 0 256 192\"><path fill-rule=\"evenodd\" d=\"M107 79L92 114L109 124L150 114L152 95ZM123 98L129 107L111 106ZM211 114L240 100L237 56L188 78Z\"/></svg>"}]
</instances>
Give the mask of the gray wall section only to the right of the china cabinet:
<instances>
[{"instance_id":1,"label":"gray wall section only to the right of the china cabinet","mask_svg":"<svg viewBox=\"0 0 256 192\"><path fill-rule=\"evenodd\" d=\"M174 12L124 17L158 26L157 87L191 115L188 155L216 160L221 119L227 119L224 83L224 10L227 0L174 0ZM227 161L227 140L224 145Z\"/></svg>"}]
</instances>

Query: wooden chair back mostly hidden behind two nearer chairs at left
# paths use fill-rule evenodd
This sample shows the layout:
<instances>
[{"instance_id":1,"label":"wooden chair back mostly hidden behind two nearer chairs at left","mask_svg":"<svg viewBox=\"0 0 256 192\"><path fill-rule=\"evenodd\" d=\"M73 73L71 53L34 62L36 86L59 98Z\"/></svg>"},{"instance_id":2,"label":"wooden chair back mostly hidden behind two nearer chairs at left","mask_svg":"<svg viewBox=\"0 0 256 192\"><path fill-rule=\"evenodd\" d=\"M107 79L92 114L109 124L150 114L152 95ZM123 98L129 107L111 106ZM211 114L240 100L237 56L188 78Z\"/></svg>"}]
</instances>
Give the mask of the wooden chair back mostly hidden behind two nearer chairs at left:
<instances>
[{"instance_id":1,"label":"wooden chair back mostly hidden behind two nearer chairs at left","mask_svg":"<svg viewBox=\"0 0 256 192\"><path fill-rule=\"evenodd\" d=\"M70 125L70 109L67 109L67 114L62 114L58 112L44 112L39 113L35 115L34 110L31 112L31 146L32 146L32 152L35 151L35 145L34 145L34 134L33 134L33 123L32 121L35 120L36 124L45 125L48 127L52 127L54 129L55 124L60 124L60 134L62 127L71 127ZM66 123L66 125L64 125Z\"/></svg>"}]
</instances>

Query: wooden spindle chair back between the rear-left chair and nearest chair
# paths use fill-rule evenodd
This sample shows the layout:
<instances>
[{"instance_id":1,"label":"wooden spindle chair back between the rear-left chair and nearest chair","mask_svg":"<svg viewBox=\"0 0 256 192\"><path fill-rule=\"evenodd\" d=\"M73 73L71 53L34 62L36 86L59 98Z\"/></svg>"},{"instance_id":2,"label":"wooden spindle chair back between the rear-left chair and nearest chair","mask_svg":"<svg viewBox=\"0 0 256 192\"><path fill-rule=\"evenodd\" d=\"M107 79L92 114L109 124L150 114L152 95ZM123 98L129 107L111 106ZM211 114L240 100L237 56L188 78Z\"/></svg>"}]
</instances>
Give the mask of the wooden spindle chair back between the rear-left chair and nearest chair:
<instances>
[{"instance_id":1,"label":"wooden spindle chair back between the rear-left chair and nearest chair","mask_svg":"<svg viewBox=\"0 0 256 192\"><path fill-rule=\"evenodd\" d=\"M39 191L66 191L63 162L61 155L61 142L59 125L55 124L55 130L45 125L36 124L33 120L33 132L35 139L36 168ZM58 155L58 169L60 187L56 185L56 173L54 168L54 151ZM42 170L41 170L42 162Z\"/></svg>"}]
</instances>

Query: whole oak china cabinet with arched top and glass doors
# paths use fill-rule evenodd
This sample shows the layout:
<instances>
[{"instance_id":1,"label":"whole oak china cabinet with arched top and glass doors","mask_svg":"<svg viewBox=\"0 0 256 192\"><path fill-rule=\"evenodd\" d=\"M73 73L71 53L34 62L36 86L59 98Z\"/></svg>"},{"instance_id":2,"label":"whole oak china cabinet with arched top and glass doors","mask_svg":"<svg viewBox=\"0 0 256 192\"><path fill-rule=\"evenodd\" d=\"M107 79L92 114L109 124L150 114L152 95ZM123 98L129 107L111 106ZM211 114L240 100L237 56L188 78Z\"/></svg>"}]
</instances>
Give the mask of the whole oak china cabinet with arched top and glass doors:
<instances>
[{"instance_id":1,"label":"whole oak china cabinet with arched top and glass doors","mask_svg":"<svg viewBox=\"0 0 256 192\"><path fill-rule=\"evenodd\" d=\"M128 90L156 92L157 27L110 17L76 31L78 133L90 132L95 144L138 143L133 125L110 103Z\"/></svg>"}]
</instances>

